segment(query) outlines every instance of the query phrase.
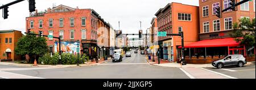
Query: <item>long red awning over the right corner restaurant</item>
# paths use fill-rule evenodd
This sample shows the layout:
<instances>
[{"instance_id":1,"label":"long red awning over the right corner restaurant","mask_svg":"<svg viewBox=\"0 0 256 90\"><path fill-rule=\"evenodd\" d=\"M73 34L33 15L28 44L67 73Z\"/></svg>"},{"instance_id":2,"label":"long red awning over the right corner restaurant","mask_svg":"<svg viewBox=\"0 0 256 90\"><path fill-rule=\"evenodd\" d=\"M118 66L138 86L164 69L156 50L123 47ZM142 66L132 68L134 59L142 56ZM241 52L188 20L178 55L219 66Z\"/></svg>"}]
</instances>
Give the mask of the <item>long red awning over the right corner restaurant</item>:
<instances>
[{"instance_id":1,"label":"long red awning over the right corner restaurant","mask_svg":"<svg viewBox=\"0 0 256 90\"><path fill-rule=\"evenodd\" d=\"M213 40L192 42L191 44L185 45L184 48L209 48L222 46L240 46L240 42L237 42L234 38L217 38ZM181 46L179 46L179 48L181 48Z\"/></svg>"}]
</instances>

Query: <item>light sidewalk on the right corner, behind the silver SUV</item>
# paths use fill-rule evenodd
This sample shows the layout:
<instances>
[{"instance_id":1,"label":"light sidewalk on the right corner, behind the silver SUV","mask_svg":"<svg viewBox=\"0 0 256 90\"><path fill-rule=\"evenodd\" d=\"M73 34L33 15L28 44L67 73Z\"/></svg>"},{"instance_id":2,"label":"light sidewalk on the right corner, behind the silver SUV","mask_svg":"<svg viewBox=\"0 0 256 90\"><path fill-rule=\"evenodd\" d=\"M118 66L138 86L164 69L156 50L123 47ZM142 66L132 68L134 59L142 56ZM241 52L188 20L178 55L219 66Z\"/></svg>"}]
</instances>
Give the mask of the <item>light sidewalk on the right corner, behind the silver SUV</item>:
<instances>
[{"instance_id":1,"label":"light sidewalk on the right corner, behind the silver SUV","mask_svg":"<svg viewBox=\"0 0 256 90\"><path fill-rule=\"evenodd\" d=\"M156 59L156 58L155 58L155 62L152 62L151 60L148 60L148 57L146 57L146 60L147 60L148 63L150 63L150 65L154 65L154 66L177 67L177 68L180 68L180 63L177 63L177 62L169 63L167 61L160 61L160 64L158 64L158 59ZM247 62L246 65L251 65L251 64L255 64L255 62ZM202 64L202 65L187 64L187 65L183 65L182 67L183 68L189 68L189 67L203 68L203 67L213 67L213 66L212 66L212 64Z\"/></svg>"}]
</instances>

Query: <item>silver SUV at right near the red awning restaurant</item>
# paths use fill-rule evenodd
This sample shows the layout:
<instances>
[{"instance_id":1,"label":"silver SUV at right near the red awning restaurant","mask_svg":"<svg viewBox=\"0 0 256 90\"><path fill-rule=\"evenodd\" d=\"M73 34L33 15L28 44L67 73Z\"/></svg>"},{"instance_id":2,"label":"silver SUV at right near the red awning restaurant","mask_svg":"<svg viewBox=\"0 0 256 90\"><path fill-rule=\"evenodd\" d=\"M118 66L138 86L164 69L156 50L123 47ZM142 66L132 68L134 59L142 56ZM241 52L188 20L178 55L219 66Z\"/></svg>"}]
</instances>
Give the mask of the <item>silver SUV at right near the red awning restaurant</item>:
<instances>
[{"instance_id":1,"label":"silver SUV at right near the red awning restaurant","mask_svg":"<svg viewBox=\"0 0 256 90\"><path fill-rule=\"evenodd\" d=\"M217 68L222 68L224 66L234 66L243 67L246 64L246 58L240 54L228 55L227 57L220 59L218 61L212 62L212 65Z\"/></svg>"}]
</instances>

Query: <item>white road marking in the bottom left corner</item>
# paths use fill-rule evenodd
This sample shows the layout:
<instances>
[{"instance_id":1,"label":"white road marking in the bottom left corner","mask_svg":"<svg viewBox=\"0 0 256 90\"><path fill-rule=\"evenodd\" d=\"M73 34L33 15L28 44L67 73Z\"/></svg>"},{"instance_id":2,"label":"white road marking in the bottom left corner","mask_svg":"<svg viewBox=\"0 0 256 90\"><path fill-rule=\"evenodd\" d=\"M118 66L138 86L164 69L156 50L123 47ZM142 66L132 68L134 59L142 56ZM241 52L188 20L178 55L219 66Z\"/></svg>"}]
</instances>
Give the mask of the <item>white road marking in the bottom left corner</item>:
<instances>
[{"instance_id":1,"label":"white road marking in the bottom left corner","mask_svg":"<svg viewBox=\"0 0 256 90\"><path fill-rule=\"evenodd\" d=\"M44 79L44 78L39 78L35 76L28 76L28 75L22 75L22 74L15 74L12 72L5 72L5 71L0 71L1 77L6 78L6 79Z\"/></svg>"}]
</instances>

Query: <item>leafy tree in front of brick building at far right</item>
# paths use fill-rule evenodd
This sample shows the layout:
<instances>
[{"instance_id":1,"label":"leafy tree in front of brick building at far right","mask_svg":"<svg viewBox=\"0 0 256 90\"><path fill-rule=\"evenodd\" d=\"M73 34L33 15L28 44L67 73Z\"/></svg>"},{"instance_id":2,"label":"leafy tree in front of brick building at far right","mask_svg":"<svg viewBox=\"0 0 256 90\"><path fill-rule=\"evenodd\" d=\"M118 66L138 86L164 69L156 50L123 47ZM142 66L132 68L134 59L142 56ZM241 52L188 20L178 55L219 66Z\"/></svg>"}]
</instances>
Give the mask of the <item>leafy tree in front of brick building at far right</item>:
<instances>
[{"instance_id":1,"label":"leafy tree in front of brick building at far right","mask_svg":"<svg viewBox=\"0 0 256 90\"><path fill-rule=\"evenodd\" d=\"M253 20L242 18L239 23L234 23L233 27L231 36L236 38L236 41L241 42L241 45L245 45L246 48L253 46L255 48L255 18Z\"/></svg>"}]
</instances>

